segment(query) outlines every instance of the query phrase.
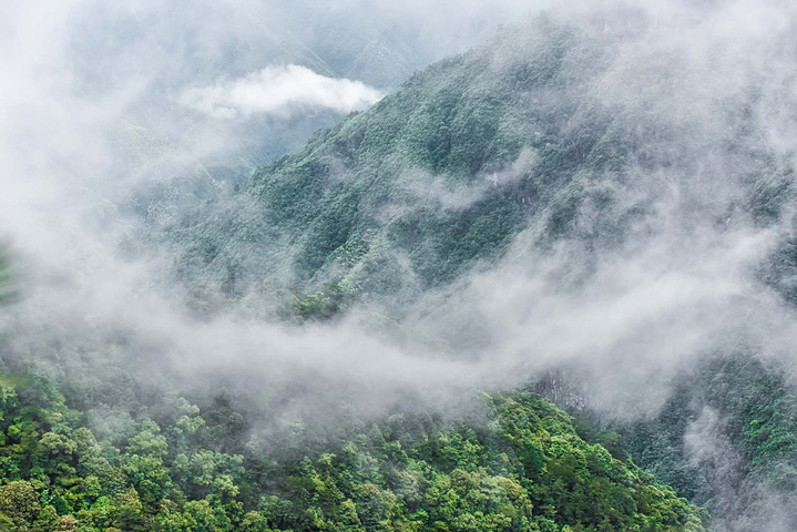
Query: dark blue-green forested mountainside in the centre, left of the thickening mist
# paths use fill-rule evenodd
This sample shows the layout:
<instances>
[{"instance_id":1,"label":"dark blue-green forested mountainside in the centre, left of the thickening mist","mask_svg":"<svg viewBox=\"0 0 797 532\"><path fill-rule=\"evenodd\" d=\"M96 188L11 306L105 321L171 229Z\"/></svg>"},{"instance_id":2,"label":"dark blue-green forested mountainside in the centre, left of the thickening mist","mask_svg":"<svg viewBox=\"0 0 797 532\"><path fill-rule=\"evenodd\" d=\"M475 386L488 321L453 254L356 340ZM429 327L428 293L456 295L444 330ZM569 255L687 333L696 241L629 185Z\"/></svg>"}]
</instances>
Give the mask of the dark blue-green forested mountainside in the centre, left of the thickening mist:
<instances>
[{"instance_id":1,"label":"dark blue-green forested mountainside in the centre, left of the thickening mist","mask_svg":"<svg viewBox=\"0 0 797 532\"><path fill-rule=\"evenodd\" d=\"M638 116L589 93L611 53L544 18L504 30L318 132L232 200L157 227L157 238L173 246L181 280L226 296L264 280L299 298L329 283L360 297L450 283L500 256L530 218L551 239L572 229L594 188L585 171L627 176L633 154L619 146ZM627 225L619 216L612 234Z\"/></svg>"}]
</instances>

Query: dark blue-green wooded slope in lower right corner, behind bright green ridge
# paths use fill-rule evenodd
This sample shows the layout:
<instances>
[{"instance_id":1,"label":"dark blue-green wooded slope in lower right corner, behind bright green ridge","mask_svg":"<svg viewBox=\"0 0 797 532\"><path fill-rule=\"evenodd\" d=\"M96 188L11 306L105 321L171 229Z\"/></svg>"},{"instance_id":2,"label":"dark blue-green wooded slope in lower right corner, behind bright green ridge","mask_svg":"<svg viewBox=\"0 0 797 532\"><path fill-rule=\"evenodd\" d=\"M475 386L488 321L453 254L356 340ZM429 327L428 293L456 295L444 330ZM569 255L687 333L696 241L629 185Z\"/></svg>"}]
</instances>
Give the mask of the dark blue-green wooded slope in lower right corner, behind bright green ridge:
<instances>
[{"instance_id":1,"label":"dark blue-green wooded slope in lower right corner, behind bright green ridge","mask_svg":"<svg viewBox=\"0 0 797 532\"><path fill-rule=\"evenodd\" d=\"M717 521L797 504L797 397L749 356L707 361L654 420L616 430L637 463Z\"/></svg>"}]
</instances>

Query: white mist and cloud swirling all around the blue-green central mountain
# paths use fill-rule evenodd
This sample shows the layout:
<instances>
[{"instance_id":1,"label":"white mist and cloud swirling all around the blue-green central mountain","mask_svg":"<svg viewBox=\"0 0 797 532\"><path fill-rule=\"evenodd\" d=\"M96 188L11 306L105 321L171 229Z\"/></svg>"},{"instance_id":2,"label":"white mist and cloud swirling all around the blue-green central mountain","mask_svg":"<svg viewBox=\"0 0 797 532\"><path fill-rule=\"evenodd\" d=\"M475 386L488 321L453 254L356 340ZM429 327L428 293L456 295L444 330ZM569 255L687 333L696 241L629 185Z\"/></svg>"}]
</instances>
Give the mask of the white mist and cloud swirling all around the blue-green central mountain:
<instances>
[{"instance_id":1,"label":"white mist and cloud swirling all around the blue-green central mountain","mask_svg":"<svg viewBox=\"0 0 797 532\"><path fill-rule=\"evenodd\" d=\"M528 106L586 102L560 125L573 143L591 113L612 115L633 139L648 134L622 177L585 167L546 193L552 202L528 212L504 254L428 288L388 246L398 294L296 325L279 319L277 290L255 283L196 313L186 305L194 285L174 278L174 248L152 238L146 253L127 253L203 202L262 223L238 194L257 168L389 100L415 71L489 42L499 24L522 34L540 13L586 28L609 52L586 86ZM253 447L295 422L333 430L348 409L366 420L468 416L479 390L559 370L590 408L624 421L654 417L677 377L717 352L750 354L794 386L797 319L783 294L793 280L775 286L765 268L795 236L795 16L775 0L7 3L0 229L20 301L1 318L3 362L78 392L120 372L142 382L142 396L176 390L202 403L226 388L253 416ZM357 32L361 42L351 41ZM498 72L521 52L490 53ZM578 80L579 58L570 59ZM650 124L656 130L643 131ZM462 212L521 176L542 183L539 152L529 142L504 166L466 177L408 166L378 218L420 203ZM773 216L749 207L769 192L753 177L763 162L786 182ZM329 166L330 182L348 183L344 163ZM152 191L166 200L149 202ZM572 224L552 237L573 198ZM258 246L239 252L251 277L296 285L290 243ZM93 369L100 364L112 369ZM133 401L93 397L83 407L124 411ZM722 427L711 409L694 421L695 462L737 459ZM788 516L774 519L773 530L787 530Z\"/></svg>"}]
</instances>

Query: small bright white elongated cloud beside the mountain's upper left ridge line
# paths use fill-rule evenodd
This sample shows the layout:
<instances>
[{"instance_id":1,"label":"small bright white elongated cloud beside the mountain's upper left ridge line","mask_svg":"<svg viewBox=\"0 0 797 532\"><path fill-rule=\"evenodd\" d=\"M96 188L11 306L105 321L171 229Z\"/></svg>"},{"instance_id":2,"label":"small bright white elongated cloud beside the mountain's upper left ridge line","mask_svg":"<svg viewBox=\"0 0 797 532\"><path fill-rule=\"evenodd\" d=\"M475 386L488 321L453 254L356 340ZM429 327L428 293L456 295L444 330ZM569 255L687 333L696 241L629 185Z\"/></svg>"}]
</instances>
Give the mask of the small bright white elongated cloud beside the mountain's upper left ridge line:
<instances>
[{"instance_id":1,"label":"small bright white elongated cloud beside the mountain's upper left ridge line","mask_svg":"<svg viewBox=\"0 0 797 532\"><path fill-rule=\"evenodd\" d=\"M191 88L180 103L219 119L246 119L253 114L290 115L302 109L329 109L340 113L368 109L382 93L359 81L328 78L297 64L267 66L259 72L213 86Z\"/></svg>"}]
</instances>

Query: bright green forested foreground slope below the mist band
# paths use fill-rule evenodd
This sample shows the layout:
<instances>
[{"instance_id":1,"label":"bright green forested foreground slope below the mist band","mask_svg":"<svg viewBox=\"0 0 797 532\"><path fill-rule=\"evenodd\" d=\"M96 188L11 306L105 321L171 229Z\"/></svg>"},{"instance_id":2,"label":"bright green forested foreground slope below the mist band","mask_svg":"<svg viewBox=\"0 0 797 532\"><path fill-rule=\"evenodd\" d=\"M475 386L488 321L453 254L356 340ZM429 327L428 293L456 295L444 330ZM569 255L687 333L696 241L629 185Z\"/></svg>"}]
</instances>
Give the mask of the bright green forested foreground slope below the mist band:
<instances>
[{"instance_id":1,"label":"bright green forested foreground slope below the mist band","mask_svg":"<svg viewBox=\"0 0 797 532\"><path fill-rule=\"evenodd\" d=\"M394 416L331 452L213 451L217 412L177 399L98 441L34 376L0 379L0 529L9 531L703 530L705 515L529 393L484 396L480 428Z\"/></svg>"}]
</instances>

